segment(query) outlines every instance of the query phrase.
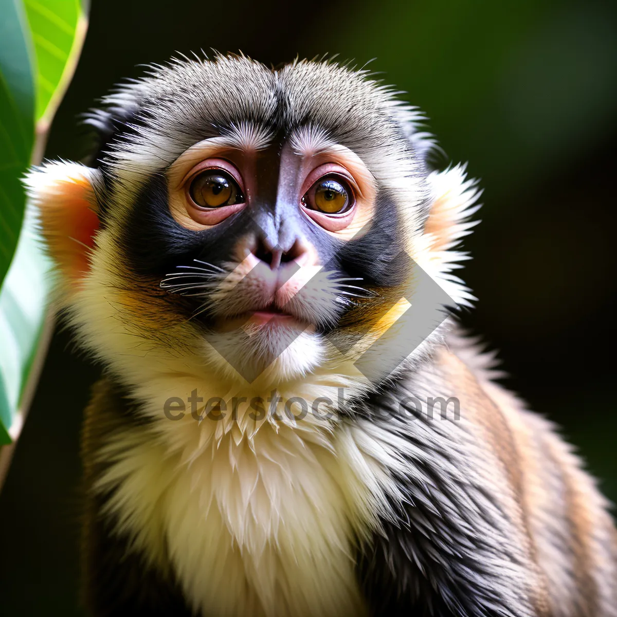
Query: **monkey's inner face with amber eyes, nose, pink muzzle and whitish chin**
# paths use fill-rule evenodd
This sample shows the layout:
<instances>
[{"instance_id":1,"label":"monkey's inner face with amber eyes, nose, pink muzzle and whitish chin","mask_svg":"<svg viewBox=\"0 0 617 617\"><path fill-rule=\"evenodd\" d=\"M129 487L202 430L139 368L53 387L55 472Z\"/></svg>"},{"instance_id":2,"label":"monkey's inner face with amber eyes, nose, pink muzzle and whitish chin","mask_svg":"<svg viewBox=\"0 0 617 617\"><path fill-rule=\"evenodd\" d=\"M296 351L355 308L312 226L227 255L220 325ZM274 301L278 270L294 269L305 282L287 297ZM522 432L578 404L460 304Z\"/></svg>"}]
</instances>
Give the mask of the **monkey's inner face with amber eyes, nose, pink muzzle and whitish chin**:
<instances>
[{"instance_id":1,"label":"monkey's inner face with amber eyes, nose, pink muzzle and whitish chin","mask_svg":"<svg viewBox=\"0 0 617 617\"><path fill-rule=\"evenodd\" d=\"M167 255L161 287L190 299L186 317L251 381L278 358L283 371L312 369L341 318L361 304L366 309L405 275L394 260L381 271L358 263L358 251L378 265L387 250L384 234L371 233L376 182L358 155L314 132L279 132L257 135L242 123L240 135L183 152L165 190L167 212L186 233L185 250L171 255L161 234L154 251ZM154 201L146 196L143 203ZM393 208L390 215L397 216ZM148 261L146 276L153 272Z\"/></svg>"}]
</instances>

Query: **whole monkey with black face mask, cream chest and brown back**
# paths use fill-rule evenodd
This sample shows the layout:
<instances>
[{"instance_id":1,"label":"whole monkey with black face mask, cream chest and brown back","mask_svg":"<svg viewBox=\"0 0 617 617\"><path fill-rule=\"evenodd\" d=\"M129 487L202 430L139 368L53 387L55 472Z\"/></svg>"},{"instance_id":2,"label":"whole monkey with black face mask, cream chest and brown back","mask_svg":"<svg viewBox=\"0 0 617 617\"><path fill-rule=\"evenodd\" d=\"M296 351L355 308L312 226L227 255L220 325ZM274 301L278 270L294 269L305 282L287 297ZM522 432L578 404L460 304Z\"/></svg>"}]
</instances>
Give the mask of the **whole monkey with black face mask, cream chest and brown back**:
<instances>
[{"instance_id":1,"label":"whole monkey with black face mask, cream chest and brown back","mask_svg":"<svg viewBox=\"0 0 617 617\"><path fill-rule=\"evenodd\" d=\"M462 333L479 189L366 70L173 59L25 183L85 410L94 617L614 617L607 501Z\"/></svg>"}]
</instances>

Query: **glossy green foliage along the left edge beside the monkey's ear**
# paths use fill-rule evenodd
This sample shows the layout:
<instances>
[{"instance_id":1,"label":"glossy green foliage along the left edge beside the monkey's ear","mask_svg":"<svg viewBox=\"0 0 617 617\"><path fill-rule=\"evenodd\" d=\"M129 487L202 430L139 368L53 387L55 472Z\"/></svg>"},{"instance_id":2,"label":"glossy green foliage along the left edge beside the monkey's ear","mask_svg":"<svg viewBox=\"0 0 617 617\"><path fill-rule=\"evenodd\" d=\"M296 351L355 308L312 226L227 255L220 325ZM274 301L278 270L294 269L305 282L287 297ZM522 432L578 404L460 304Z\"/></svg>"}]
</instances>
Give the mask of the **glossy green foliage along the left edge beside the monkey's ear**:
<instances>
[{"instance_id":1,"label":"glossy green foliage along the left edge beside the monkey's ear","mask_svg":"<svg viewBox=\"0 0 617 617\"><path fill-rule=\"evenodd\" d=\"M0 445L19 434L46 347L50 263L21 178L39 163L85 28L78 0L0 0Z\"/></svg>"}]
</instances>

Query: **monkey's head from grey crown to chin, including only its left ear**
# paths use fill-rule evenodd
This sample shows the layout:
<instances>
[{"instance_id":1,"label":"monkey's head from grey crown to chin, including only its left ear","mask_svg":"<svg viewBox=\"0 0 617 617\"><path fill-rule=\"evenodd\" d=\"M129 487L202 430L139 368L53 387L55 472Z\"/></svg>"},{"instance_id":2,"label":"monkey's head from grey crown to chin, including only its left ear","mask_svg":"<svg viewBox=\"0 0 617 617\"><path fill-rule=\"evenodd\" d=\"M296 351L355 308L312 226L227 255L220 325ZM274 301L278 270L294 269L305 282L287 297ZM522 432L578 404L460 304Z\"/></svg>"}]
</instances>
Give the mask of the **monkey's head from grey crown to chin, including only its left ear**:
<instances>
[{"instance_id":1,"label":"monkey's head from grey crown to chin, including only its left ear","mask_svg":"<svg viewBox=\"0 0 617 617\"><path fill-rule=\"evenodd\" d=\"M56 261L82 340L118 373L351 378L341 367L373 342L396 344L410 264L430 270L437 232L428 141L389 91L329 63L217 57L157 68L104 102L89 119L94 167L56 164L31 185L52 252L52 196L88 204L61 233L89 252L60 242Z\"/></svg>"}]
</instances>

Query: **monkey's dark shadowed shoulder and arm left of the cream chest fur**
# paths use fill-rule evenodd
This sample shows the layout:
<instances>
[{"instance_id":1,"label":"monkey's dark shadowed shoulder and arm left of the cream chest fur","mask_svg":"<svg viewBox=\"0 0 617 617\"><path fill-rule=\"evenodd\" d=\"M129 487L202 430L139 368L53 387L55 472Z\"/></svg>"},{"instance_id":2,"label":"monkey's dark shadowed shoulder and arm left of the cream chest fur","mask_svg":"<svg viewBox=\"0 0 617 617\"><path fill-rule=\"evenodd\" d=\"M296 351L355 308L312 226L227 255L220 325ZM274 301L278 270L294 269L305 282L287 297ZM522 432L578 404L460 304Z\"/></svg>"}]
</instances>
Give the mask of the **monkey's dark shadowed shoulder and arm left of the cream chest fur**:
<instances>
[{"instance_id":1,"label":"monkey's dark shadowed shoulder and arm left of the cream chest fur","mask_svg":"<svg viewBox=\"0 0 617 617\"><path fill-rule=\"evenodd\" d=\"M82 601L93 617L190 617L176 582L165 563L152 564L143 552L131 549L131 539L118 532L117 518L107 512L109 491L96 483L109 462L104 445L126 426L143 424L133 401L111 378L93 387L86 407L81 436L84 467L84 508L81 529Z\"/></svg>"}]
</instances>

